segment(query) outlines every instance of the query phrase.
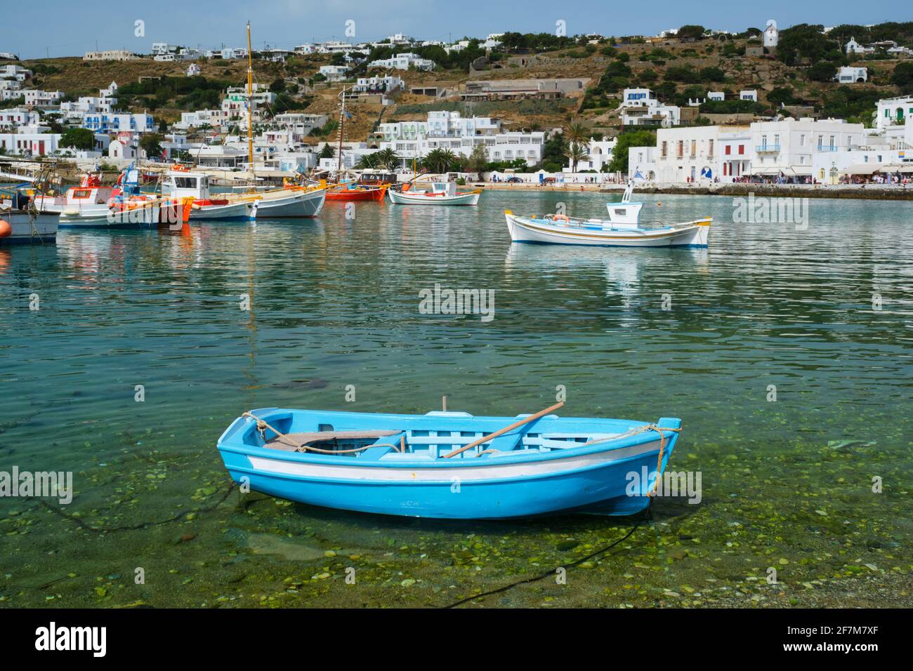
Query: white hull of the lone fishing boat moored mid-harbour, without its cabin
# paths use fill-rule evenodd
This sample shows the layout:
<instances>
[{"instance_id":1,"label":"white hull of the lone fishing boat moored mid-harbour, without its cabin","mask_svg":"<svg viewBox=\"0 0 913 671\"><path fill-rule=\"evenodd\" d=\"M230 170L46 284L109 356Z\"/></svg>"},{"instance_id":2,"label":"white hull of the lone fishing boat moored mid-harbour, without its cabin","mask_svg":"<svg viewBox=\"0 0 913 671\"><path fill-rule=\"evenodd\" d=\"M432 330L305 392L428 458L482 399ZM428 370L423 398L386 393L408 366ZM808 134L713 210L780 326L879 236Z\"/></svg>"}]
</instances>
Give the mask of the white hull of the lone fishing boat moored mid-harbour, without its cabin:
<instances>
[{"instance_id":1,"label":"white hull of the lone fishing boat moored mid-harbour, without its cabin","mask_svg":"<svg viewBox=\"0 0 913 671\"><path fill-rule=\"evenodd\" d=\"M513 242L552 245L625 247L706 247L710 217L673 225L642 228L605 219L580 219L567 215L519 216L504 211Z\"/></svg>"}]
</instances>

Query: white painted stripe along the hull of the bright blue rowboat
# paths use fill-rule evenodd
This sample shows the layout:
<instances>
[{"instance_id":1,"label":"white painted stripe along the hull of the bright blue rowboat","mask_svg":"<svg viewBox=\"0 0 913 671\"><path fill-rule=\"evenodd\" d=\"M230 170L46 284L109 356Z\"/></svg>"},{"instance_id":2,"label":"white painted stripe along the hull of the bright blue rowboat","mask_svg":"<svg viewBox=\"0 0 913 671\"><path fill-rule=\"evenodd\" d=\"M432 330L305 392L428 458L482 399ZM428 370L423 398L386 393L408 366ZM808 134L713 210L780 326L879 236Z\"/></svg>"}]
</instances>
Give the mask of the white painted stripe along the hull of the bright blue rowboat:
<instances>
[{"instance_id":1,"label":"white painted stripe along the hull of the bright blue rowboat","mask_svg":"<svg viewBox=\"0 0 913 671\"><path fill-rule=\"evenodd\" d=\"M416 482L440 483L451 482L458 478L461 482L477 480L492 480L512 477L535 477L555 475L567 471L575 471L586 467L604 466L631 456L640 456L650 452L658 452L659 441L651 441L643 445L622 447L620 449L606 450L588 455L568 456L566 458L545 459L530 462L529 464L498 464L497 460L486 465L476 465L477 459L472 458L471 465L466 467L422 467L416 461L415 467L358 467L335 466L300 461L286 461L282 459L268 459L262 456L247 456L255 470L264 473L275 473L296 477L317 477L321 479L361 480L364 482ZM357 457L356 457L357 458ZM484 457L478 457L484 458ZM404 462L399 462L404 464Z\"/></svg>"}]
</instances>

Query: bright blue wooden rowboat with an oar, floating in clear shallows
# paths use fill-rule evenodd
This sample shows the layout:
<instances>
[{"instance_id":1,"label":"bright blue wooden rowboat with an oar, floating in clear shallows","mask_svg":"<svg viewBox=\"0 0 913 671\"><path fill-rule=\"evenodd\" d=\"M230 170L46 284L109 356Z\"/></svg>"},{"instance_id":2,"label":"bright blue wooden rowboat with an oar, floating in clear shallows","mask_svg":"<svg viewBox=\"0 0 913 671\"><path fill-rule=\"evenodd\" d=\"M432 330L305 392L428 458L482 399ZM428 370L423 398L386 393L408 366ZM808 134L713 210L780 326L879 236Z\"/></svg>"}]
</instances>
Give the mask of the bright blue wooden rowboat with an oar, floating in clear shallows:
<instances>
[{"instance_id":1,"label":"bright blue wooden rowboat with an oar, floating in clear shallows","mask_svg":"<svg viewBox=\"0 0 913 671\"><path fill-rule=\"evenodd\" d=\"M559 407L516 417L263 408L238 417L218 449L237 483L326 508L455 519L645 509L680 420L551 414Z\"/></svg>"}]
</instances>

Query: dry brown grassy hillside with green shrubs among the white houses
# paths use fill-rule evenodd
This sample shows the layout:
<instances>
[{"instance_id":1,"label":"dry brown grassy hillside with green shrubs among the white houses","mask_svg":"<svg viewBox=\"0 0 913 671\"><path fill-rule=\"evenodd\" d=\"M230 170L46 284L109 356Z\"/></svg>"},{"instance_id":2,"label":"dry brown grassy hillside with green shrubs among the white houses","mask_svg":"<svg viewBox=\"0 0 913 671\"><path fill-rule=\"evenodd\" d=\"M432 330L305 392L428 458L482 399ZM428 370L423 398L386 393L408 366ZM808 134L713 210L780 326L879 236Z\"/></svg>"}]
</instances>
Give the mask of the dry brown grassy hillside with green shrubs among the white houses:
<instances>
[{"instance_id":1,"label":"dry brown grassy hillside with green shrubs among the white houses","mask_svg":"<svg viewBox=\"0 0 913 671\"><path fill-rule=\"evenodd\" d=\"M698 122L728 119L745 121L756 115L799 110L820 116L871 121L870 110L878 98L898 95L901 89L892 82L897 59L859 60L854 65L868 68L869 81L850 86L822 79L820 68L798 62L792 65L770 54L746 56L746 47L756 40L705 38L698 41L679 39L632 40L627 43L589 45L584 49L567 48L546 53L496 53L487 66L470 74L463 69L433 72L395 71L406 82L406 91L394 96L386 109L375 102L347 103L352 120L346 124L346 140L366 140L378 121L425 119L431 110L456 110L464 114L490 116L503 122L509 130L547 130L567 127L571 121L582 121L594 131L614 134L620 131L621 91L625 87L656 90L662 100L687 105L691 98L703 99L708 90L727 93L724 105L706 104L700 109ZM289 58L286 63L255 59L254 77L269 86L278 80L282 100L279 110L301 110L328 115L335 120L339 113L341 85L315 82L314 75L331 59L323 55ZM247 81L246 60L201 59L196 61L208 82L243 86ZM909 63L909 61L907 61ZM69 99L97 95L112 80L119 85L148 77L184 77L187 63L159 63L151 58L127 62L89 62L81 58L50 58L24 63L36 70L31 86L62 90ZM901 65L908 68L909 65ZM359 74L363 74L362 72ZM587 78L585 92L559 100L521 100L463 103L458 92L470 79L552 79ZM320 78L318 78L320 79ZM443 98L414 95L414 87L438 87L451 94ZM740 105L741 89L757 89L756 105ZM215 90L210 98L215 96ZM132 111L149 111L157 120L175 121L182 111L194 107L198 96L135 95L129 100ZM206 99L208 100L208 99ZM729 102L731 100L731 102ZM383 116L382 116L383 112ZM789 112L787 112L789 113ZM867 118L866 118L867 117ZM335 134L315 138L326 142Z\"/></svg>"}]
</instances>

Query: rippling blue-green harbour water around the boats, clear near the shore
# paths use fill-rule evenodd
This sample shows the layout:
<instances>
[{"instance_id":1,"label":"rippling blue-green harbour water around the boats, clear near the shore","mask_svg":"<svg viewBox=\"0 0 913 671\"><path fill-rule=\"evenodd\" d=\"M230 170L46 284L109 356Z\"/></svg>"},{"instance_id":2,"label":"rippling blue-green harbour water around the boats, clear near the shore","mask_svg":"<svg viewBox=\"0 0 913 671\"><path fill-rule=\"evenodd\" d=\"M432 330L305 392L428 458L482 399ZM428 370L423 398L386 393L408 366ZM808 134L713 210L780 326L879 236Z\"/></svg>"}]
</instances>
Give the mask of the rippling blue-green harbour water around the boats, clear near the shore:
<instances>
[{"instance_id":1,"label":"rippling blue-green harbour water around the boats, clear near the shore","mask_svg":"<svg viewBox=\"0 0 913 671\"><path fill-rule=\"evenodd\" d=\"M580 558L630 525L242 499L215 452L250 408L426 412L447 394L512 415L557 385L564 414L681 417L672 467L701 471L703 500L658 500L567 585L478 603L860 603L864 581L903 603L913 204L813 199L797 231L734 224L729 198L653 198L646 221L713 215L710 247L511 246L503 208L599 216L606 197L490 192L476 208L328 204L0 249L0 470L73 471L77 491L62 511L0 498L2 603L445 604ZM494 289L494 319L421 314L436 283ZM765 592L771 565L782 586Z\"/></svg>"}]
</instances>

